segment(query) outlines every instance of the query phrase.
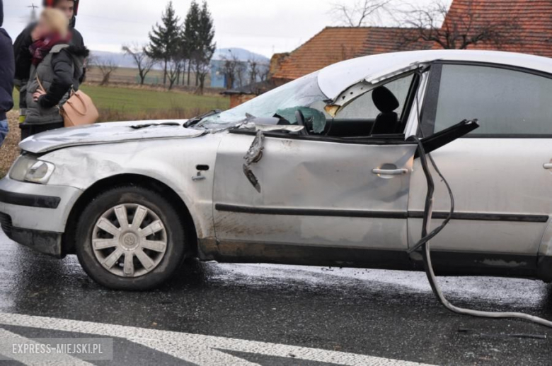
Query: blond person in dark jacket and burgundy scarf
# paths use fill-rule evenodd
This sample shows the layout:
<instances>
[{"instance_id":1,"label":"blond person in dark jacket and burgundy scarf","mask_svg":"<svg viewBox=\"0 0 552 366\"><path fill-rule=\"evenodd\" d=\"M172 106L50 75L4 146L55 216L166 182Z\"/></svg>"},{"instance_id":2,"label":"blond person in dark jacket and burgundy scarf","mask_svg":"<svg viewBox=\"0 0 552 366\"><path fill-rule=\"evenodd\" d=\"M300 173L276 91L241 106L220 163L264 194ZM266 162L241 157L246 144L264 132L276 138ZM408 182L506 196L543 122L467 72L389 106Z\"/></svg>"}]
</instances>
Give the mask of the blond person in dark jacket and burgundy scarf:
<instances>
[{"instance_id":1,"label":"blond person in dark jacket and burgundy scarf","mask_svg":"<svg viewBox=\"0 0 552 366\"><path fill-rule=\"evenodd\" d=\"M64 126L59 114L71 96L79 90L84 59L88 49L71 44L69 21L62 11L46 8L33 30L35 42L30 45L31 67L25 86L27 107L21 124L21 138Z\"/></svg>"}]
</instances>

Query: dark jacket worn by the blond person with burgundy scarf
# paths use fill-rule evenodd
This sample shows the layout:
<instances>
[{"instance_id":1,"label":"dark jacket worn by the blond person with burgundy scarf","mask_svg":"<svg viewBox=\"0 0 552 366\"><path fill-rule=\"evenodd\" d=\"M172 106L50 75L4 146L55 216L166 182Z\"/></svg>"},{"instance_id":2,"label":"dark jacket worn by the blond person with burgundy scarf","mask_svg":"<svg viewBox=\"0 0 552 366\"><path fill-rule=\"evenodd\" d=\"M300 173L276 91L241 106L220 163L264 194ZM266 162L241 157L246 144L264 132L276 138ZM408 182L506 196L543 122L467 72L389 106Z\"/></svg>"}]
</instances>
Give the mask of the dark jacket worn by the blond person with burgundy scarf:
<instances>
[{"instance_id":1,"label":"dark jacket worn by the blond person with burgundy scarf","mask_svg":"<svg viewBox=\"0 0 552 366\"><path fill-rule=\"evenodd\" d=\"M54 79L46 95L38 100L40 107L52 108L59 104L67 90L73 86L79 90L79 81L82 77L80 60L88 57L88 49L84 46L71 45L52 57L52 71Z\"/></svg>"}]
</instances>

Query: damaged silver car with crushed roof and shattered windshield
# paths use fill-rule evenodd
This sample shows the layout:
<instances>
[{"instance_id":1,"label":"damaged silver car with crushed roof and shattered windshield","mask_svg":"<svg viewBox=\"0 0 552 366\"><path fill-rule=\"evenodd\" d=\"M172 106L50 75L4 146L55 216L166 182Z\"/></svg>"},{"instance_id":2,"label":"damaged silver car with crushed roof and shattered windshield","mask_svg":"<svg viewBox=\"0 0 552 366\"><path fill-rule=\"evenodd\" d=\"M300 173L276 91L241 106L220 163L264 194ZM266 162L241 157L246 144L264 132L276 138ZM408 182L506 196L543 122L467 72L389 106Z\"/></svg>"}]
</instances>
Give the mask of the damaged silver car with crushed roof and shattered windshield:
<instances>
[{"instance_id":1,"label":"damaged silver car with crushed roof and shattered windshield","mask_svg":"<svg viewBox=\"0 0 552 366\"><path fill-rule=\"evenodd\" d=\"M50 131L0 181L1 226L124 290L155 288L187 257L418 270L418 137L456 203L432 240L437 273L552 281L551 93L550 59L403 52L188 121ZM450 200L435 186L437 227Z\"/></svg>"}]
</instances>

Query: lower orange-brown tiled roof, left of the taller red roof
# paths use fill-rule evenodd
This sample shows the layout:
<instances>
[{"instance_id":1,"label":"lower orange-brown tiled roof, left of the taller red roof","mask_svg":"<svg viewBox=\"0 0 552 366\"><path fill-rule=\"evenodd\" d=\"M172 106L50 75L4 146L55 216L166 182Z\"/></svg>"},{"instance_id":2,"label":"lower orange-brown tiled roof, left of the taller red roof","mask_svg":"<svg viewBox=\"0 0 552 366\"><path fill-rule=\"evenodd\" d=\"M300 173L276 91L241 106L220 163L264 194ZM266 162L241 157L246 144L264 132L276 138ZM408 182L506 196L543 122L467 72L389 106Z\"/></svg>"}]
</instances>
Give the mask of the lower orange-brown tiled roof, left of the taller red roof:
<instances>
[{"instance_id":1,"label":"lower orange-brown tiled roof, left of the taller red roof","mask_svg":"<svg viewBox=\"0 0 552 366\"><path fill-rule=\"evenodd\" d=\"M293 80L345 59L432 47L426 42L406 42L412 32L405 28L324 28L289 54L272 78Z\"/></svg>"}]
</instances>

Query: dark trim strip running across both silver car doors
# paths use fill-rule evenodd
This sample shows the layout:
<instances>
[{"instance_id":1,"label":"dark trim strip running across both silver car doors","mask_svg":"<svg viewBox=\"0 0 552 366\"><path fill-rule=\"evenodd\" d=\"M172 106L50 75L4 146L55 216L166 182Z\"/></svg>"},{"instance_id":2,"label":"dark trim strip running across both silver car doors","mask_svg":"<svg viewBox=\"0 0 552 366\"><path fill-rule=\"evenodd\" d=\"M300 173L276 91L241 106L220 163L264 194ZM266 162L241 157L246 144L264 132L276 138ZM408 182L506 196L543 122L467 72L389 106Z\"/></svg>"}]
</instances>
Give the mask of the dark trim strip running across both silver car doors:
<instances>
[{"instance_id":1,"label":"dark trim strip running across both silver car doors","mask_svg":"<svg viewBox=\"0 0 552 366\"><path fill-rule=\"evenodd\" d=\"M359 210L321 210L310 208L276 208L276 207L253 207L237 206L225 203L214 205L215 210L235 213L251 213L258 215L277 216L330 216L350 218L423 218L423 211L359 211ZM448 212L434 212L432 218L444 219ZM453 220L476 220L476 221L510 221L521 223L546 223L546 215L517 215L505 213L469 213L456 212L452 215Z\"/></svg>"}]
</instances>

